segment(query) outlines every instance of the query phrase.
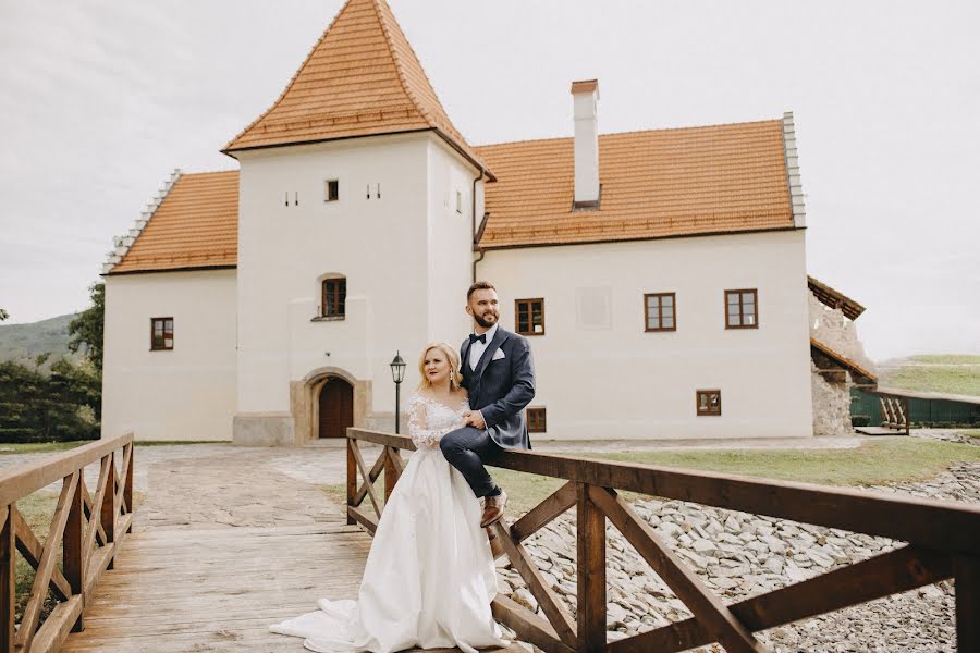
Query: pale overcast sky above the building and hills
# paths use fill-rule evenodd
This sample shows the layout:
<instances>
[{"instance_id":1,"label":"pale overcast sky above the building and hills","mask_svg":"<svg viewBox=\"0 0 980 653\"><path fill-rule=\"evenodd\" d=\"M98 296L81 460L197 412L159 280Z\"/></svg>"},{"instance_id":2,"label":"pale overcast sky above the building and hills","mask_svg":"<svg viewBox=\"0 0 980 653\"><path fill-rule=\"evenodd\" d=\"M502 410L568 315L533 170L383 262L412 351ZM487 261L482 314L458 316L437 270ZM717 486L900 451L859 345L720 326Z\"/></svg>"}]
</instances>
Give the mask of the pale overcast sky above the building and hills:
<instances>
[{"instance_id":1,"label":"pale overcast sky above the building and hills","mask_svg":"<svg viewBox=\"0 0 980 653\"><path fill-rule=\"evenodd\" d=\"M872 358L980 353L980 3L390 0L476 145L796 118L813 276ZM267 109L341 0L0 0L0 307L84 308L174 169Z\"/></svg>"}]
</instances>

